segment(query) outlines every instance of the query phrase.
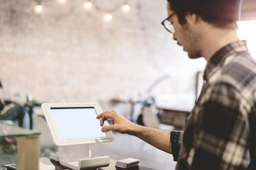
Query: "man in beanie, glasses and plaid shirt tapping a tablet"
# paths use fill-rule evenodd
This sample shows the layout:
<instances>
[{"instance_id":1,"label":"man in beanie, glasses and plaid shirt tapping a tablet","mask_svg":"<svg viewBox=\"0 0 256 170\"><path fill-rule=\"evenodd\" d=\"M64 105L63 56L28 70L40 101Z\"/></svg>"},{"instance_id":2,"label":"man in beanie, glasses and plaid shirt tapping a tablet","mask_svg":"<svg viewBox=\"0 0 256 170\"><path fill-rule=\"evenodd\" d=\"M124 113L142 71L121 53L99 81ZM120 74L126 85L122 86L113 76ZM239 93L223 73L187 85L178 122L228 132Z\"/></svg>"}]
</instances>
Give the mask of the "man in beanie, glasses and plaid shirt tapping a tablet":
<instances>
[{"instance_id":1,"label":"man in beanie, glasses and plaid shirt tapping a tablet","mask_svg":"<svg viewBox=\"0 0 256 170\"><path fill-rule=\"evenodd\" d=\"M102 131L127 133L173 154L176 169L256 169L256 64L237 37L241 0L168 0L162 24L189 58L204 57L204 85L184 132L98 115Z\"/></svg>"}]
</instances>

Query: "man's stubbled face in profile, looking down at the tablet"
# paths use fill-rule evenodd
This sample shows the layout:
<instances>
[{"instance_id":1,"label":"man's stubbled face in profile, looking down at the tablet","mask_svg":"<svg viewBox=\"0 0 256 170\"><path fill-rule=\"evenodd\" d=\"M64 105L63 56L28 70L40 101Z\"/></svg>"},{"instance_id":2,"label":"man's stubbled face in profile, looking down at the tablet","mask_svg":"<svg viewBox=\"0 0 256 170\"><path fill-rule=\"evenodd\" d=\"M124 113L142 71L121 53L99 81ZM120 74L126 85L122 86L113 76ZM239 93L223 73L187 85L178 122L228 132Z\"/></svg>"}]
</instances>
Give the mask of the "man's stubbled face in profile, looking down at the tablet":
<instances>
[{"instance_id":1,"label":"man's stubbled face in profile, looking down at the tablet","mask_svg":"<svg viewBox=\"0 0 256 170\"><path fill-rule=\"evenodd\" d=\"M167 2L168 15L173 14L170 8L170 3ZM186 22L184 25L180 25L178 16L174 14L169 21L173 23L175 33L173 34L173 40L178 41L178 45L183 47L183 50L188 53L189 58L200 58L202 53L200 50L200 35L196 32L195 25L191 25Z\"/></svg>"}]
</instances>

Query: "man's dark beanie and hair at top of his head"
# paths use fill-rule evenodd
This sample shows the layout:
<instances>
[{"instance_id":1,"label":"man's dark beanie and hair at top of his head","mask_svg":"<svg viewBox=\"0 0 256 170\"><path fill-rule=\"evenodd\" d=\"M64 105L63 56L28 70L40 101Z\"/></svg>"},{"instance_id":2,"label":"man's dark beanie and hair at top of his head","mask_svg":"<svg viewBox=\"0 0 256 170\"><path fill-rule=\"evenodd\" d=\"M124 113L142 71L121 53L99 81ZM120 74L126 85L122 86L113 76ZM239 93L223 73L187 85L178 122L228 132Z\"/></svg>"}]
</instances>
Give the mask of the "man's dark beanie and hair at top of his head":
<instances>
[{"instance_id":1,"label":"man's dark beanie and hair at top of his head","mask_svg":"<svg viewBox=\"0 0 256 170\"><path fill-rule=\"evenodd\" d=\"M242 0L167 0L179 23L186 23L186 14L197 14L203 21L215 27L233 27L239 19Z\"/></svg>"}]
</instances>

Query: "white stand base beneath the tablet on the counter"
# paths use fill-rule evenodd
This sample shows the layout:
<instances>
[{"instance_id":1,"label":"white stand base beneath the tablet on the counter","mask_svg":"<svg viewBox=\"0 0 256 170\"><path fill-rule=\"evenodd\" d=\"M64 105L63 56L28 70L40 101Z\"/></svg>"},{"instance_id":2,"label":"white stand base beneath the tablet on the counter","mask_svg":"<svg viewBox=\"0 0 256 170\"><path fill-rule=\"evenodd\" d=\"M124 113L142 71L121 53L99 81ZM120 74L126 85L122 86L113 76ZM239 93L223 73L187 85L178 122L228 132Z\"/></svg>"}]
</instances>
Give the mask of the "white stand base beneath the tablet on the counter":
<instances>
[{"instance_id":1,"label":"white stand base beneath the tablet on the counter","mask_svg":"<svg viewBox=\"0 0 256 170\"><path fill-rule=\"evenodd\" d=\"M64 165L65 167L78 170L109 166L109 156L92 157L88 144L65 145L58 147L58 156L55 155L55 158L53 159L58 159L61 165Z\"/></svg>"}]
</instances>

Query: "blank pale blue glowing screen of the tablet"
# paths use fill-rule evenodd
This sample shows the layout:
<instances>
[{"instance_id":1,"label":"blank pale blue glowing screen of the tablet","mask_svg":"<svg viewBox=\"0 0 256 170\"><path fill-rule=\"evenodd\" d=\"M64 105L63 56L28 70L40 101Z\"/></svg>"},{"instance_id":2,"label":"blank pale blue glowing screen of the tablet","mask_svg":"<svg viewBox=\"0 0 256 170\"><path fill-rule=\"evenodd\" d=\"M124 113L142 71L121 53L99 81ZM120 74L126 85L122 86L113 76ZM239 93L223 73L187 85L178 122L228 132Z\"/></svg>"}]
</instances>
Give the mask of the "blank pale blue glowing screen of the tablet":
<instances>
[{"instance_id":1,"label":"blank pale blue glowing screen of the tablet","mask_svg":"<svg viewBox=\"0 0 256 170\"><path fill-rule=\"evenodd\" d=\"M94 107L51 108L51 112L63 141L107 137Z\"/></svg>"}]
</instances>

